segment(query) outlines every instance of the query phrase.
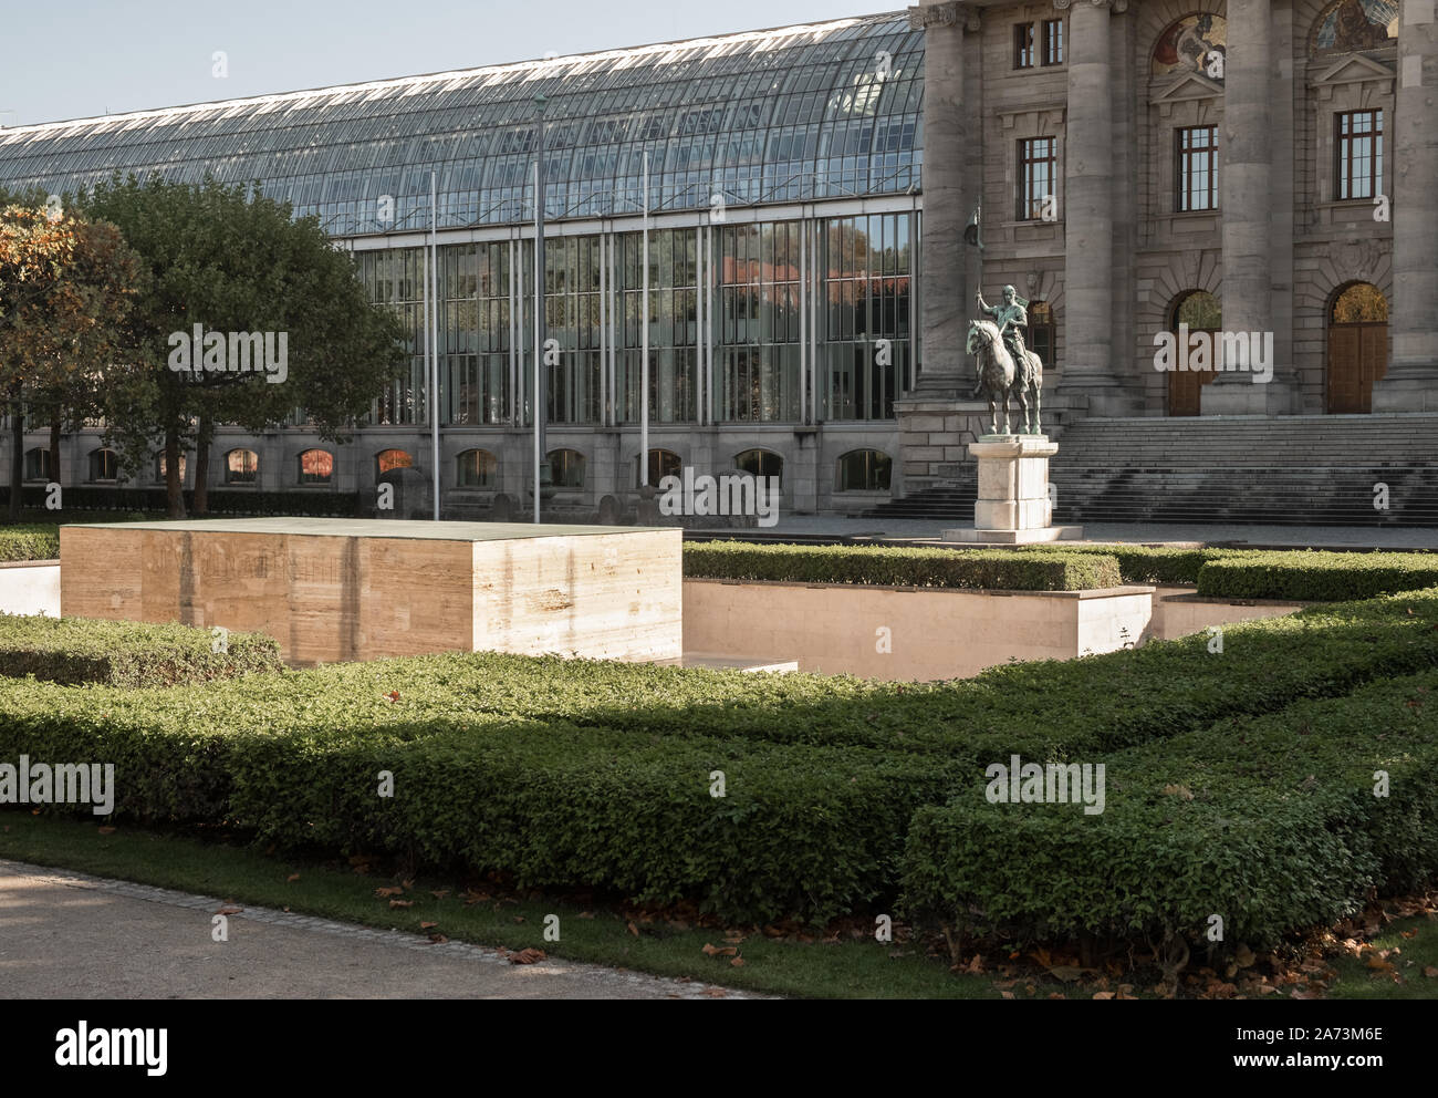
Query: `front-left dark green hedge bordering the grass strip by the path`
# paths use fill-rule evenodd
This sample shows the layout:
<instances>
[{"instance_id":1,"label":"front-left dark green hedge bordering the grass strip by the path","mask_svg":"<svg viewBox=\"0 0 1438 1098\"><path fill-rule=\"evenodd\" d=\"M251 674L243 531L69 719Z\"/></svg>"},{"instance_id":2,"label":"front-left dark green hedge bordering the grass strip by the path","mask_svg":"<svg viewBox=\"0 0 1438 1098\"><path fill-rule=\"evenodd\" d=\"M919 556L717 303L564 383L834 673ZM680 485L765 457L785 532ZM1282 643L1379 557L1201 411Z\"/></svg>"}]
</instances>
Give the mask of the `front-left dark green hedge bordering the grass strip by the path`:
<instances>
[{"instance_id":1,"label":"front-left dark green hedge bordering the grass strip by the path","mask_svg":"<svg viewBox=\"0 0 1438 1098\"><path fill-rule=\"evenodd\" d=\"M112 761L118 819L224 822L257 842L503 869L526 886L687 897L735 922L824 922L892 889L909 817L956 779L943 760L853 747L531 720L279 731L224 717L198 689L13 692L27 712L0 717L0 758ZM158 718L147 694L187 697ZM393 797L378 796L381 770Z\"/></svg>"}]
</instances>

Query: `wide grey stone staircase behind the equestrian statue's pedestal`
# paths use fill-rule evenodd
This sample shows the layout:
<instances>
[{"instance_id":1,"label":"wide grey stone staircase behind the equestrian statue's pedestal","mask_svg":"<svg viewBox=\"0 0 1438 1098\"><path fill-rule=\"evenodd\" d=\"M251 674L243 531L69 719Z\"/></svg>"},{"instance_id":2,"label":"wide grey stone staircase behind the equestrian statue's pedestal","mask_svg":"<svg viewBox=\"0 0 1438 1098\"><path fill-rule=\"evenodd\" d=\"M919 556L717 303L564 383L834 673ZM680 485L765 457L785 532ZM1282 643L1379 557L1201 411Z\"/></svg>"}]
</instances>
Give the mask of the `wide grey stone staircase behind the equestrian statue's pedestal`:
<instances>
[{"instance_id":1,"label":"wide grey stone staircase behind the equestrian statue's pedestal","mask_svg":"<svg viewBox=\"0 0 1438 1098\"><path fill-rule=\"evenodd\" d=\"M972 522L975 463L945 472L866 517ZM1077 419L1048 479L1055 524L1438 527L1438 414Z\"/></svg>"}]
</instances>

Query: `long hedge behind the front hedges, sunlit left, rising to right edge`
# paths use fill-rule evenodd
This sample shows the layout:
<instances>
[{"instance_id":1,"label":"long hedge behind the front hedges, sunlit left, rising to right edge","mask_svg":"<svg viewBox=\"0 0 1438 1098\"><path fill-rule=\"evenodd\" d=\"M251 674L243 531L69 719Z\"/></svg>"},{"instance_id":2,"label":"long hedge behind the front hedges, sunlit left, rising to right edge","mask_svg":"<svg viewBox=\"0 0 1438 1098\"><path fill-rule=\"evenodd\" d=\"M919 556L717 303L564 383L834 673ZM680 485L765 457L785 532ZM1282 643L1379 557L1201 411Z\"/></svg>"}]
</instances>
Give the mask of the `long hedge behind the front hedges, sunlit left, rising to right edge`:
<instances>
[{"instance_id":1,"label":"long hedge behind the front hedges, sunlit left, rising to right edge","mask_svg":"<svg viewBox=\"0 0 1438 1098\"><path fill-rule=\"evenodd\" d=\"M383 695L398 689L401 709L416 720L529 717L636 734L742 735L946 757L1054 745L1112 750L1438 666L1438 590L1235 623L1224 627L1222 653L1208 645L1198 635L919 685L496 653L352 663L324 673L332 694L351 699L352 717L377 711L381 721L393 715ZM266 702L285 720L299 720L312 704L306 697L305 709L288 712L285 698Z\"/></svg>"}]
</instances>

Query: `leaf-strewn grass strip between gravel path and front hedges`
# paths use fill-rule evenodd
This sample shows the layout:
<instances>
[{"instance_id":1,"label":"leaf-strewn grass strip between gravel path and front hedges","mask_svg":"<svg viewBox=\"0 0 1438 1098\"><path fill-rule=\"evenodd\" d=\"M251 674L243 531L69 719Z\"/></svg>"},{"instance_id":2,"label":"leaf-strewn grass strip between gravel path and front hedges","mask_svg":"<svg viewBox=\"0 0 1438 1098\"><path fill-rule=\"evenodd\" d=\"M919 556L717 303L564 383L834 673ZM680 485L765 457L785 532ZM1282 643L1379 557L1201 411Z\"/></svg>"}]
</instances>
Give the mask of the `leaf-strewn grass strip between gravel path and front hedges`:
<instances>
[{"instance_id":1,"label":"leaf-strewn grass strip between gravel path and front hedges","mask_svg":"<svg viewBox=\"0 0 1438 1098\"><path fill-rule=\"evenodd\" d=\"M255 904L394 927L436 944L467 941L513 964L565 957L804 997L1438 997L1438 892L1375 904L1362 918L1273 953L1240 948L1217 968L1194 956L1165 973L1143 943L1116 945L1090 967L1074 951L998 941L955 961L942 935L916 938L902 922L887 943L876 940L873 918L821 931L725 927L692 905L650 909L582 892L521 892L493 879L427 879L368 856L298 862L217 839L0 813L0 858L221 895L216 912ZM558 941L545 940L546 925L557 925Z\"/></svg>"}]
</instances>

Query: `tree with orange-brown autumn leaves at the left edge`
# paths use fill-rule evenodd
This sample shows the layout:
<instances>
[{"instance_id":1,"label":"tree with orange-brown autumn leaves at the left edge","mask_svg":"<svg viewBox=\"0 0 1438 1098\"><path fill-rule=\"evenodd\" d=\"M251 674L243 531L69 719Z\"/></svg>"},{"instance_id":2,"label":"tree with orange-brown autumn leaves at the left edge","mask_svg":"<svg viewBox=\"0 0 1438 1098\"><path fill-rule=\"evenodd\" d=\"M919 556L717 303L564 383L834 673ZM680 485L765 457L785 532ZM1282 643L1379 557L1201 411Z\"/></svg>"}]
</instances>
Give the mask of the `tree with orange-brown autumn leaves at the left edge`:
<instances>
[{"instance_id":1,"label":"tree with orange-brown autumn leaves at the left edge","mask_svg":"<svg viewBox=\"0 0 1438 1098\"><path fill-rule=\"evenodd\" d=\"M0 209L0 393L10 404L10 508L20 521L26 403L49 422L85 406L122 345L142 265L114 224L37 196Z\"/></svg>"}]
</instances>

